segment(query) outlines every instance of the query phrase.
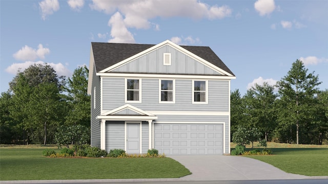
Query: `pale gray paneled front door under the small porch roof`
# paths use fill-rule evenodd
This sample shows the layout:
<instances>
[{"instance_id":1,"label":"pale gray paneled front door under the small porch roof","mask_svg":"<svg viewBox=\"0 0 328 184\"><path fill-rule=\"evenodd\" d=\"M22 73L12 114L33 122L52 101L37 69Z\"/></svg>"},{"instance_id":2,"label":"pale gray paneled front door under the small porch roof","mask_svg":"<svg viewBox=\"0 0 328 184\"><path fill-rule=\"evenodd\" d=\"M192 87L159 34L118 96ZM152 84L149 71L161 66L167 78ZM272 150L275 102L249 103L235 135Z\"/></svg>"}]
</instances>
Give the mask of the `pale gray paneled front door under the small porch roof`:
<instances>
[{"instance_id":1,"label":"pale gray paneled front door under the small porch roof","mask_svg":"<svg viewBox=\"0 0 328 184\"><path fill-rule=\"evenodd\" d=\"M127 123L127 153L140 153L140 123Z\"/></svg>"}]
</instances>

